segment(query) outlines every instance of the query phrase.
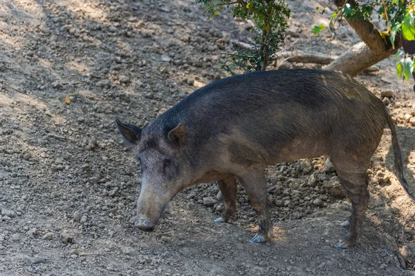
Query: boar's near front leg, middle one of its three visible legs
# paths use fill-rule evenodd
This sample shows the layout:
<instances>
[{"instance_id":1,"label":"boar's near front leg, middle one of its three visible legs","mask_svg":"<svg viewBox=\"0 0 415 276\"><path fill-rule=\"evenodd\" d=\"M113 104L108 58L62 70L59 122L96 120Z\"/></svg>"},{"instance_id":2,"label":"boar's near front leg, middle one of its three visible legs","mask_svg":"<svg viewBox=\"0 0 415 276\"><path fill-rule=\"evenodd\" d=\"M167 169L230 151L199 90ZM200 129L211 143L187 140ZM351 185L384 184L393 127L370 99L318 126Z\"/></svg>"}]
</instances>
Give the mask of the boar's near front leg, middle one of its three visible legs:
<instances>
[{"instance_id":1,"label":"boar's near front leg, middle one of its three visible legs","mask_svg":"<svg viewBox=\"0 0 415 276\"><path fill-rule=\"evenodd\" d=\"M253 168L245 175L239 176L239 181L248 195L252 208L258 215L258 233L251 239L251 242L265 242L268 234L273 236L273 223L268 213L264 170Z\"/></svg>"}]
</instances>

